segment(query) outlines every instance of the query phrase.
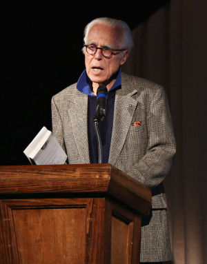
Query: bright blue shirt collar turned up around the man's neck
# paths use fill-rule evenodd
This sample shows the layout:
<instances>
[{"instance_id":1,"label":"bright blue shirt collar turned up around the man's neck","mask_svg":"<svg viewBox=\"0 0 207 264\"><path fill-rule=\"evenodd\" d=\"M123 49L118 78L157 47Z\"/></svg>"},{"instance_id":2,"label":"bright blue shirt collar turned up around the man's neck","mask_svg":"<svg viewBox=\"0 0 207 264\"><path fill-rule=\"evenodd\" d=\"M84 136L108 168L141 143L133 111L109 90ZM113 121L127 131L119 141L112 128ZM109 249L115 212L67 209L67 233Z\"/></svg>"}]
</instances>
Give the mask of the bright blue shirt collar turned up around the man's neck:
<instances>
[{"instance_id":1,"label":"bright blue shirt collar turned up around the man's neck","mask_svg":"<svg viewBox=\"0 0 207 264\"><path fill-rule=\"evenodd\" d=\"M86 73L86 70L84 70L79 77L79 80L77 81L77 90L79 92L82 92L83 94L88 94L92 97L95 97L95 94L92 94L90 90L90 79L88 78L88 75ZM119 85L121 85L121 68L119 68L119 72L117 74L117 79L115 83L112 85L112 88L110 88L110 91L117 88Z\"/></svg>"}]
</instances>

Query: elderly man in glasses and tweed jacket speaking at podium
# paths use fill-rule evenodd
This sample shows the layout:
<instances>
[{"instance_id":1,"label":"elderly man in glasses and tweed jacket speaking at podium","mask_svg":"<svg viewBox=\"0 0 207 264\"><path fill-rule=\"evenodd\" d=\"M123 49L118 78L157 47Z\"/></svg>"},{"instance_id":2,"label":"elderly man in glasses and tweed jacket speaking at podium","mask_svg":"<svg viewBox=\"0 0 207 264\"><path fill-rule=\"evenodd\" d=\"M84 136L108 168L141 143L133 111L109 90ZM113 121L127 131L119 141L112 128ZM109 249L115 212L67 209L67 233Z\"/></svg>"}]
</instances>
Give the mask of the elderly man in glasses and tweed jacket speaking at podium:
<instances>
[{"instance_id":1,"label":"elderly man in glasses and tweed jacket speaking at podium","mask_svg":"<svg viewBox=\"0 0 207 264\"><path fill-rule=\"evenodd\" d=\"M118 167L152 191L150 216L142 221L144 263L171 258L166 196L162 181L175 154L175 139L164 89L121 72L132 48L124 21L100 18L84 32L86 70L77 83L52 97L52 131L68 163L98 163L95 116L97 88L108 90L106 118L99 122L103 163Z\"/></svg>"}]
</instances>

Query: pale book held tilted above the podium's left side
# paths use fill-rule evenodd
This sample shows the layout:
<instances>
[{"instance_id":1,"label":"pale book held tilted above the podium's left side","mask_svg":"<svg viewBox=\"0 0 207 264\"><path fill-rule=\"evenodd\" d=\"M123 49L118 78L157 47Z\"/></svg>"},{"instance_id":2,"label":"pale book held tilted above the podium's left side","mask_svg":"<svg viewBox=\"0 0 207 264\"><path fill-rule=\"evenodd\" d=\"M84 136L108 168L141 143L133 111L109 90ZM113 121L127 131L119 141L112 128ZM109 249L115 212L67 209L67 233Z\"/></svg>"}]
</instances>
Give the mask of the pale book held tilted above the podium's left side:
<instances>
[{"instance_id":1,"label":"pale book held tilted above the podium's left side","mask_svg":"<svg viewBox=\"0 0 207 264\"><path fill-rule=\"evenodd\" d=\"M39 131L23 153L26 154L31 164L37 165L63 164L67 159L61 145L46 127Z\"/></svg>"}]
</instances>

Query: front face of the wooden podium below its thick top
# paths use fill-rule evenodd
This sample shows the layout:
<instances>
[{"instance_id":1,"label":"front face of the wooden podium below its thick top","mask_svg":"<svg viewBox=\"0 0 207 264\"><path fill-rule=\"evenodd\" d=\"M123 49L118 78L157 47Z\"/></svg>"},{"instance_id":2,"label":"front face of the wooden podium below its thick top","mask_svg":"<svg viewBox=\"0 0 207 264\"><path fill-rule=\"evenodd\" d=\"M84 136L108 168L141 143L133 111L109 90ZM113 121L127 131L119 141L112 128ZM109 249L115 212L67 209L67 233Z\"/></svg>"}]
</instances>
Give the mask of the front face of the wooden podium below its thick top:
<instances>
[{"instance_id":1,"label":"front face of the wooden podium below its thick top","mask_svg":"<svg viewBox=\"0 0 207 264\"><path fill-rule=\"evenodd\" d=\"M95 263L100 199L1 200L1 264ZM93 217L92 217L93 216ZM94 223L96 222L96 223ZM99 238L99 239L98 239ZM100 241L100 243L99 243ZM99 247L101 246L99 245Z\"/></svg>"}]
</instances>

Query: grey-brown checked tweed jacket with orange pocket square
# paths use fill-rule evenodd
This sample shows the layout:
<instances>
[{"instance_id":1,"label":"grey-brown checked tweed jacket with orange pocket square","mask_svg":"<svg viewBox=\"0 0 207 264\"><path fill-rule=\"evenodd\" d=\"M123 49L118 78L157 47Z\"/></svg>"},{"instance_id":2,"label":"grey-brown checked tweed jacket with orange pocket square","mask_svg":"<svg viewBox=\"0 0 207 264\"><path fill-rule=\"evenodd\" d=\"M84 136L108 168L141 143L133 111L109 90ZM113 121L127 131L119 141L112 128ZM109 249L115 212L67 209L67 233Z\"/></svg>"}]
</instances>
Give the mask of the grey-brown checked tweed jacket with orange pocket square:
<instances>
[{"instance_id":1,"label":"grey-brown checked tweed jacket with orange pocket square","mask_svg":"<svg viewBox=\"0 0 207 264\"><path fill-rule=\"evenodd\" d=\"M76 83L52 97L52 132L70 164L90 163L87 112L88 96L77 90ZM122 72L108 163L152 190L152 212L141 227L141 262L171 258L162 181L174 155L175 138L164 89Z\"/></svg>"}]
</instances>

